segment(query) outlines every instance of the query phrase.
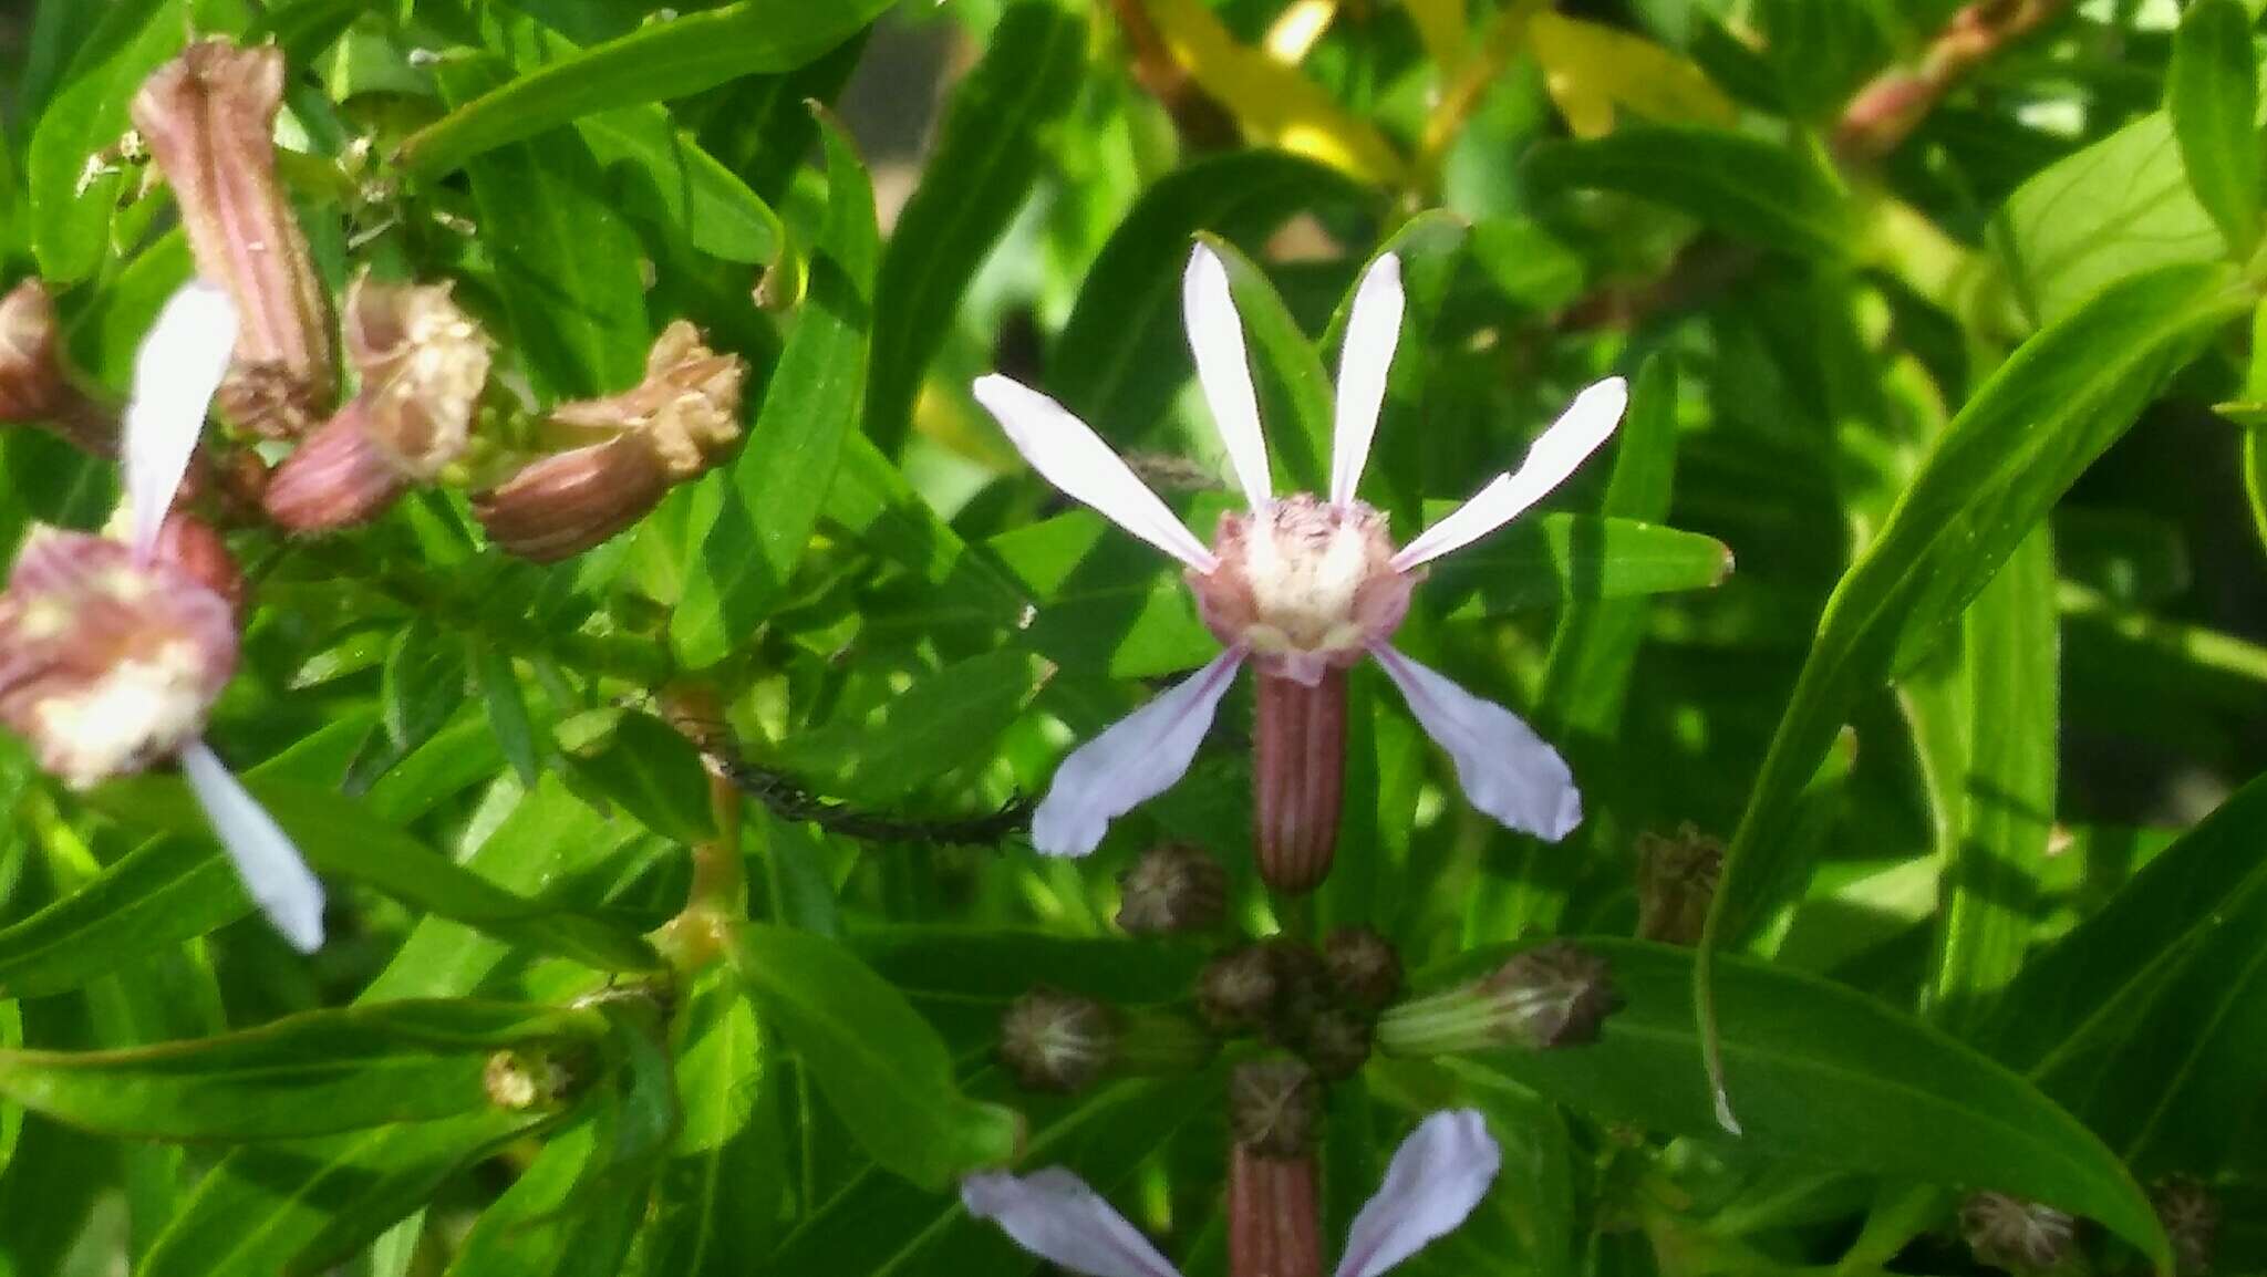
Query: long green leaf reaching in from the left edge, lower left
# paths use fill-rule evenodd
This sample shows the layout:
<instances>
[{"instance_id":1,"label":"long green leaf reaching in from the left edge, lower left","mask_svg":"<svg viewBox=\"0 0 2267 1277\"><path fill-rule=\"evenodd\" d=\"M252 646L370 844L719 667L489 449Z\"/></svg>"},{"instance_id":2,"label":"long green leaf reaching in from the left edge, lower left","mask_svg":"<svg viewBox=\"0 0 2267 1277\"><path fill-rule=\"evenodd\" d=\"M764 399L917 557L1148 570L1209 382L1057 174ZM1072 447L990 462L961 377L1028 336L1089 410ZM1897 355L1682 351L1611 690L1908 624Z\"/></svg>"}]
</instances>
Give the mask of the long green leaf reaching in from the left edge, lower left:
<instances>
[{"instance_id":1,"label":"long green leaf reaching in from the left edge, lower left","mask_svg":"<svg viewBox=\"0 0 2267 1277\"><path fill-rule=\"evenodd\" d=\"M472 1114L506 1048L592 1048L587 1012L376 1003L127 1050L0 1050L0 1096L134 1139L295 1139Z\"/></svg>"}]
</instances>

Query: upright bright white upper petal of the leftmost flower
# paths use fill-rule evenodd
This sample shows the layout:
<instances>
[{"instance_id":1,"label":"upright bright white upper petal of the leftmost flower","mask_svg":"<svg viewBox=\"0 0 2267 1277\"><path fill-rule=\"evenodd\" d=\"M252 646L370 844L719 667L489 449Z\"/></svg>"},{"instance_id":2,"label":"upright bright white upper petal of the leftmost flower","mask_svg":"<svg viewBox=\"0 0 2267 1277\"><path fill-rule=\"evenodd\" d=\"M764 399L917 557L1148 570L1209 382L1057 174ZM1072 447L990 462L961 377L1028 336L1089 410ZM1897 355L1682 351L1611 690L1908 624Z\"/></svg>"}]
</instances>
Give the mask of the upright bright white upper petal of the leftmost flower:
<instances>
[{"instance_id":1,"label":"upright bright white upper petal of the leftmost flower","mask_svg":"<svg viewBox=\"0 0 2267 1277\"><path fill-rule=\"evenodd\" d=\"M190 279L156 313L134 354L134 397L120 447L134 558L147 560L156 547L234 349L236 302L222 288Z\"/></svg>"}]
</instances>

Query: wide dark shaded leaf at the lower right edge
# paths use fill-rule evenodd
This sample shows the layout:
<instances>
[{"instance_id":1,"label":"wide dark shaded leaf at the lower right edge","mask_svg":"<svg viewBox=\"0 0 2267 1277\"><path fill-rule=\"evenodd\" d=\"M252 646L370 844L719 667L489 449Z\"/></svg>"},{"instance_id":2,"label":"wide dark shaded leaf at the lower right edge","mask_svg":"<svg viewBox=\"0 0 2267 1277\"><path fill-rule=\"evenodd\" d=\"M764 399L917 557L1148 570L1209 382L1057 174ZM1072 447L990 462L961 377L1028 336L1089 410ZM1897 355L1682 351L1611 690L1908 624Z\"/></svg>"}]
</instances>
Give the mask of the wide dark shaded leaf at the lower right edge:
<instances>
[{"instance_id":1,"label":"wide dark shaded leaf at the lower right edge","mask_svg":"<svg viewBox=\"0 0 2267 1277\"><path fill-rule=\"evenodd\" d=\"M2267 1071L2262 837L2253 780L2033 955L1979 1034L2142 1173L2244 1150Z\"/></svg>"}]
</instances>

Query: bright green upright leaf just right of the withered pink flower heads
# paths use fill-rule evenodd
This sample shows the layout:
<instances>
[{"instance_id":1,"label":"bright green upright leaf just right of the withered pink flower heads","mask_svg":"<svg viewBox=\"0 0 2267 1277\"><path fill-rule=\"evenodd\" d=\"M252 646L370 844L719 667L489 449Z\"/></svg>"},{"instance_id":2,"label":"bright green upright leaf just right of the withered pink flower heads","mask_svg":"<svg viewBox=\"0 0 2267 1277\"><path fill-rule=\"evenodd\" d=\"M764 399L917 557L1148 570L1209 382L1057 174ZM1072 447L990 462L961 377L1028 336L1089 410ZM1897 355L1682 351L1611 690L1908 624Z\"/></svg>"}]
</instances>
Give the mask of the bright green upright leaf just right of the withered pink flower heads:
<instances>
[{"instance_id":1,"label":"bright green upright leaf just right of the withered pink flower heads","mask_svg":"<svg viewBox=\"0 0 2267 1277\"><path fill-rule=\"evenodd\" d=\"M827 220L748 442L725 472L716 517L694 528L685 597L669 621L678 660L703 667L744 642L780 599L825 506L843 440L857 433L880 256L873 184L848 134L821 120Z\"/></svg>"}]
</instances>

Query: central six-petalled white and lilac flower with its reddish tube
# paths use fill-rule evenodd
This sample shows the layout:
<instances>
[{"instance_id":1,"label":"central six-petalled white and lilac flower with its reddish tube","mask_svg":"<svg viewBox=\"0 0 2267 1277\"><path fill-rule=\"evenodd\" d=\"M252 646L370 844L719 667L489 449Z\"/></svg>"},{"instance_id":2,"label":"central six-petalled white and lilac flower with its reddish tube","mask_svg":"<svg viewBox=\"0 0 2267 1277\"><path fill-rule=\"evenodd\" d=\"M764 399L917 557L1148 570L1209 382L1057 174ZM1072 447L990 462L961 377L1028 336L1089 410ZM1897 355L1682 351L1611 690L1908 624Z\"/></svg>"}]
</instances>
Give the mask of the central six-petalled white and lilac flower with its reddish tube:
<instances>
[{"instance_id":1,"label":"central six-petalled white and lilac flower with its reddish tube","mask_svg":"<svg viewBox=\"0 0 2267 1277\"><path fill-rule=\"evenodd\" d=\"M1582 390L1566 413L1528 451L1517 472L1498 474L1476 497L1417 540L1392 549L1385 515L1356 499L1369 440L1385 399L1385 372L1401 336L1401 263L1381 256L1362 277L1347 322L1338 372L1328 499L1276 499L1267 474L1267 442L1245 358L1242 324L1229 295L1226 268L1197 245L1188 263L1183 308L1197 379L1220 424L1229 463L1249 510L1222 517L1213 547L1202 544L1149 488L1054 399L1007 377L982 377L975 397L1007 429L1016 449L1050 483L1093 506L1124 531L1181 560L1206 626L1222 651L1192 678L1161 694L1099 737L1079 746L1054 773L1031 821L1031 844L1045 855L1086 855L1102 844L1109 821L1172 787L1197 755L1213 712L1236 671L1251 662L1260 674L1260 735L1276 719L1270 694L1331 687L1328 678L1372 656L1401 687L1426 733L1449 751L1458 780L1476 807L1496 821L1557 842L1582 821L1582 801L1566 762L1523 721L1480 701L1449 678L1390 646L1408 610L1421 567L1501 528L1546 497L1605 442L1621 422L1628 388L1610 377ZM1340 683L1342 687L1342 683ZM1310 721L1313 735L1340 739L1342 692L1335 714L1281 717ZM1333 735L1335 724L1335 735ZM1254 783L1260 798L1263 873L1267 842L1283 837L1326 846L1299 848L1279 887L1304 889L1328 866L1338 835L1338 783L1285 785L1274 778L1270 746L1260 742ZM1333 753L1331 767L1340 767ZM1285 810L1317 814L1306 828L1283 826L1265 812L1274 792L1292 792ZM1306 807L1299 805L1306 794ZM1292 821L1297 823L1297 821ZM1317 823L1326 828L1315 832ZM1317 864L1319 862L1319 864Z\"/></svg>"}]
</instances>

